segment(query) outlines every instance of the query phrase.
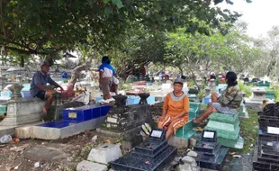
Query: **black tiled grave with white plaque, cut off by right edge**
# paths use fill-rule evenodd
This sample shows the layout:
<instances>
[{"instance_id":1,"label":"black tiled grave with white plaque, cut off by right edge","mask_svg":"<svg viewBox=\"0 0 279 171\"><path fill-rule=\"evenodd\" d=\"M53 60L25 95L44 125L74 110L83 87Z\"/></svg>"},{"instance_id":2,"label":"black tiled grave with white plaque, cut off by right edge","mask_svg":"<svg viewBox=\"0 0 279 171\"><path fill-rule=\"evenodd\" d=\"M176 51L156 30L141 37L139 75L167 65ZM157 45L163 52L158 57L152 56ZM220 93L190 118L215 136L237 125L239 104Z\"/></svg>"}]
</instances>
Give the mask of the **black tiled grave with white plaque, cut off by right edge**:
<instances>
[{"instance_id":1,"label":"black tiled grave with white plaque, cut off by right edge","mask_svg":"<svg viewBox=\"0 0 279 171\"><path fill-rule=\"evenodd\" d=\"M264 112L258 112L259 138L253 157L255 170L279 170L278 104L267 104Z\"/></svg>"}]
</instances>

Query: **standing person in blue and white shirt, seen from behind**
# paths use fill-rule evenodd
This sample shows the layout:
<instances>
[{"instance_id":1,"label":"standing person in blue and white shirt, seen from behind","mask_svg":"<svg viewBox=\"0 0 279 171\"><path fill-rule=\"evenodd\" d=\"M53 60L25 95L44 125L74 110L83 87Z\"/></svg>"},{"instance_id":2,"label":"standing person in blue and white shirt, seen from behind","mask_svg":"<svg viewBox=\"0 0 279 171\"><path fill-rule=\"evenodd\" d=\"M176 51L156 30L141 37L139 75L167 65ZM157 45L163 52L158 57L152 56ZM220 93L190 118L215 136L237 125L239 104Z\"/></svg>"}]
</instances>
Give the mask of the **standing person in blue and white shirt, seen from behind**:
<instances>
[{"instance_id":1,"label":"standing person in blue and white shirt, seen from behind","mask_svg":"<svg viewBox=\"0 0 279 171\"><path fill-rule=\"evenodd\" d=\"M99 67L99 85L103 91L103 100L111 99L110 90L112 87L112 77L115 76L115 70L111 66L111 59L103 56L102 65Z\"/></svg>"}]
</instances>

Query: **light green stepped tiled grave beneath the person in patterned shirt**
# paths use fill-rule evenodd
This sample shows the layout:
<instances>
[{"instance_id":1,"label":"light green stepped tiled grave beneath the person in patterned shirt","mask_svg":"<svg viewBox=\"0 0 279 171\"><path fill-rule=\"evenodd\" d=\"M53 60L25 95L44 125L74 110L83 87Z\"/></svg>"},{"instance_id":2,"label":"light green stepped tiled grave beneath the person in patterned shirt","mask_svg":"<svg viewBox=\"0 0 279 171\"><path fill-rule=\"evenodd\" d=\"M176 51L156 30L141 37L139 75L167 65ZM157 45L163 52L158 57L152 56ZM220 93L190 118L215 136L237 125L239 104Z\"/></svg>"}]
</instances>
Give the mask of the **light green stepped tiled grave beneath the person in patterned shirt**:
<instances>
[{"instance_id":1,"label":"light green stepped tiled grave beneath the person in patterned shirt","mask_svg":"<svg viewBox=\"0 0 279 171\"><path fill-rule=\"evenodd\" d=\"M227 114L221 112L213 112L209 117L209 122L206 125L206 130L216 130L223 146L230 148L243 148L243 140L239 137L240 121L238 113ZM227 140L228 139L228 140ZM226 143L230 141L231 143ZM238 144L238 146L236 146ZM239 146L242 144L242 146Z\"/></svg>"}]
</instances>

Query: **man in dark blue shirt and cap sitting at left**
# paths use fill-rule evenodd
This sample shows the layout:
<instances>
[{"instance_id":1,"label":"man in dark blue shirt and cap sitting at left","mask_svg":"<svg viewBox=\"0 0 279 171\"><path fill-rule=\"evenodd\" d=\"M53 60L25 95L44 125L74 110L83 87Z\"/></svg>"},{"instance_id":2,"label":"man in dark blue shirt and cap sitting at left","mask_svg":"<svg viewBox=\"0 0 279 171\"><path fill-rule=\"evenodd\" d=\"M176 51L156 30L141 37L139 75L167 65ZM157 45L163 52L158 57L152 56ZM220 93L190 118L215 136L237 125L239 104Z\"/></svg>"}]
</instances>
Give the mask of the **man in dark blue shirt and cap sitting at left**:
<instances>
[{"instance_id":1,"label":"man in dark blue shirt and cap sitting at left","mask_svg":"<svg viewBox=\"0 0 279 171\"><path fill-rule=\"evenodd\" d=\"M30 93L33 97L38 97L42 100L47 100L47 103L42 107L42 112L44 114L47 114L47 111L51 105L51 103L54 101L53 94L56 93L56 91L50 89L47 87L47 84L54 85L55 87L58 87L63 91L62 86L58 85L55 81L51 79L48 72L50 69L49 62L43 61L40 64L40 71L37 71L34 76L31 79L31 86L30 86Z\"/></svg>"}]
</instances>

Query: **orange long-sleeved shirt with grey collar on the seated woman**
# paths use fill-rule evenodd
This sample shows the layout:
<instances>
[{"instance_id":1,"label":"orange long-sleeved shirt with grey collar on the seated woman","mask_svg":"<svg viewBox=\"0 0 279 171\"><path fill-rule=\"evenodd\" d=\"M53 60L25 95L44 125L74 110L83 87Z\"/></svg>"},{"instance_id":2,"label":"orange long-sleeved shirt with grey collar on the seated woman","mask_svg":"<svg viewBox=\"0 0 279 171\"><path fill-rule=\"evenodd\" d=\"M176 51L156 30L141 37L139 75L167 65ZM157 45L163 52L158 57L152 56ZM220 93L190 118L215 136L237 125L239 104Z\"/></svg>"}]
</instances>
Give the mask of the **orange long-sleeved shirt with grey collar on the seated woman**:
<instances>
[{"instance_id":1,"label":"orange long-sleeved shirt with grey collar on the seated woman","mask_svg":"<svg viewBox=\"0 0 279 171\"><path fill-rule=\"evenodd\" d=\"M182 112L189 113L189 108L189 98L186 94L180 97L176 97L173 93L166 94L163 109L166 109L166 113L170 116L176 116Z\"/></svg>"}]
</instances>

